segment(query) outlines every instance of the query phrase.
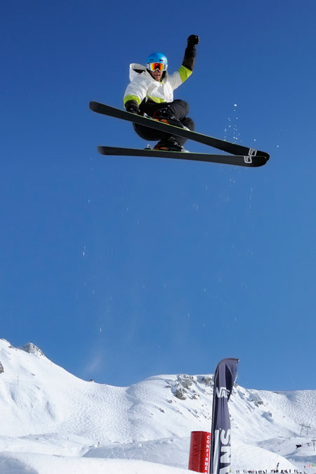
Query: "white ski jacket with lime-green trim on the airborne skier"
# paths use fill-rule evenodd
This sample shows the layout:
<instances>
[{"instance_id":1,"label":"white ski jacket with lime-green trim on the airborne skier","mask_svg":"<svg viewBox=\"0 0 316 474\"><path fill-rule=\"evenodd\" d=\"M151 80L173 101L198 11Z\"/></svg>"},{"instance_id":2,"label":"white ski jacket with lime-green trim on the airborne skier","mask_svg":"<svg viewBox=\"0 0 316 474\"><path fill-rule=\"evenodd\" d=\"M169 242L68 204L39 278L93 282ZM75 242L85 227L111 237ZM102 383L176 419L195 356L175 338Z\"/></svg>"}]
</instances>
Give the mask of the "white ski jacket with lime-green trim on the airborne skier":
<instances>
[{"instance_id":1,"label":"white ski jacket with lime-green trim on the airborne skier","mask_svg":"<svg viewBox=\"0 0 316 474\"><path fill-rule=\"evenodd\" d=\"M145 66L133 63L129 65L131 83L127 86L124 94L124 105L128 100L136 100L138 105L144 99L151 99L156 103L172 102L174 89L180 86L191 74L192 71L182 65L178 71L170 75L166 72L164 79L156 81Z\"/></svg>"}]
</instances>

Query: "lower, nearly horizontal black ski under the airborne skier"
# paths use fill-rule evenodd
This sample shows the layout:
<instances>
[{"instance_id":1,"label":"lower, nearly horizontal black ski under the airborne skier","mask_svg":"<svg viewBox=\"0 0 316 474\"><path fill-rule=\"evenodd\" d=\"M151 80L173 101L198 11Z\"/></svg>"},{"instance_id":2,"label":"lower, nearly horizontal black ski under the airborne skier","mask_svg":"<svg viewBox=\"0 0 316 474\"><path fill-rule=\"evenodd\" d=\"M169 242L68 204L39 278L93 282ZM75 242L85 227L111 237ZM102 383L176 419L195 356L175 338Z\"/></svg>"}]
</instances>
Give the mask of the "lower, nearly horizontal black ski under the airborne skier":
<instances>
[{"instance_id":1,"label":"lower, nearly horizontal black ski under the airborne skier","mask_svg":"<svg viewBox=\"0 0 316 474\"><path fill-rule=\"evenodd\" d=\"M189 159L197 162L211 162L220 164L232 164L235 166L263 166L267 162L267 157L261 155L234 155L234 154L211 154L211 153L191 153L191 152L171 152L164 150L153 150L145 148L120 148L120 147L98 147L100 154L120 155L124 157L156 157L156 158L176 158Z\"/></svg>"}]
</instances>

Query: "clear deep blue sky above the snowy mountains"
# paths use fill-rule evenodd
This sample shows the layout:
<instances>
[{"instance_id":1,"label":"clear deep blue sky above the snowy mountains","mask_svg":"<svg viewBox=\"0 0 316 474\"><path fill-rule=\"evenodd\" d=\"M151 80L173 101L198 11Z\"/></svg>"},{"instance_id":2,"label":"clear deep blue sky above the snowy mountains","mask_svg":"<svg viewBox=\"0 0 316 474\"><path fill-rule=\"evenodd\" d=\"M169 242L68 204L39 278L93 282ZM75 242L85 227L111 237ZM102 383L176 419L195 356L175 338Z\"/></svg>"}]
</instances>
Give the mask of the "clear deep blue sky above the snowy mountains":
<instances>
[{"instance_id":1,"label":"clear deep blue sky above the snowy mountains","mask_svg":"<svg viewBox=\"0 0 316 474\"><path fill-rule=\"evenodd\" d=\"M112 385L239 357L243 386L316 389L315 24L315 0L1 1L0 336ZM89 101L190 34L176 98L266 166L96 152L146 143Z\"/></svg>"}]
</instances>

